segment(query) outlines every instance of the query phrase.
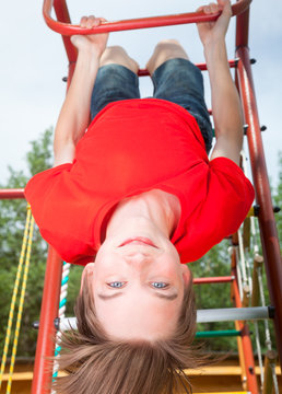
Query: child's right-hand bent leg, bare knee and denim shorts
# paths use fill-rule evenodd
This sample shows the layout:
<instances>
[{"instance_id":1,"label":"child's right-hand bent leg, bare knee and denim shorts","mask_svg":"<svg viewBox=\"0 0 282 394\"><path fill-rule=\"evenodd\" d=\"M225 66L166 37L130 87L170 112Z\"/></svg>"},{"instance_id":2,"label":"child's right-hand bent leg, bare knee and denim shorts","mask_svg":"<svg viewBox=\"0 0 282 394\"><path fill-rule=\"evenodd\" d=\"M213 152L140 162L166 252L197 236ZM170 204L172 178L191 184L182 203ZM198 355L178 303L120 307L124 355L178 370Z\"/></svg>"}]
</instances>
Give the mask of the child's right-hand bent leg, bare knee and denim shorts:
<instances>
[{"instance_id":1,"label":"child's right-hand bent leg, bare knee and denim shorts","mask_svg":"<svg viewBox=\"0 0 282 394\"><path fill-rule=\"evenodd\" d=\"M157 44L146 67L153 80L154 97L171 101L187 109L196 118L209 152L212 126L204 103L201 71L189 61L184 48L174 39Z\"/></svg>"}]
</instances>

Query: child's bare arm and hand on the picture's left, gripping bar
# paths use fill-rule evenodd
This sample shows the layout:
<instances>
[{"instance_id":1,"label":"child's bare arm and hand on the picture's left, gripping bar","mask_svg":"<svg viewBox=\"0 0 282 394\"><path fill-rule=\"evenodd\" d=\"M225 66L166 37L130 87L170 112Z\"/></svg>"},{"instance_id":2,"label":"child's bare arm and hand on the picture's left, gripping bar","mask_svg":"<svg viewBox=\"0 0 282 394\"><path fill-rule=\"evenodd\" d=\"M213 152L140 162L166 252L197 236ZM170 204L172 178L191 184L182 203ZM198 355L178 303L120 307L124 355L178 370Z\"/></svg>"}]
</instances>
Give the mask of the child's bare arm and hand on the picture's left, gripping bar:
<instances>
[{"instance_id":1,"label":"child's bare arm and hand on the picture's left, gripping bar","mask_svg":"<svg viewBox=\"0 0 282 394\"><path fill-rule=\"evenodd\" d=\"M82 27L97 26L103 19L82 18ZM108 34L74 35L72 44L78 48L78 60L55 129L55 166L72 163L74 149L84 135L90 120L91 94L98 70L99 58L106 47Z\"/></svg>"}]
</instances>

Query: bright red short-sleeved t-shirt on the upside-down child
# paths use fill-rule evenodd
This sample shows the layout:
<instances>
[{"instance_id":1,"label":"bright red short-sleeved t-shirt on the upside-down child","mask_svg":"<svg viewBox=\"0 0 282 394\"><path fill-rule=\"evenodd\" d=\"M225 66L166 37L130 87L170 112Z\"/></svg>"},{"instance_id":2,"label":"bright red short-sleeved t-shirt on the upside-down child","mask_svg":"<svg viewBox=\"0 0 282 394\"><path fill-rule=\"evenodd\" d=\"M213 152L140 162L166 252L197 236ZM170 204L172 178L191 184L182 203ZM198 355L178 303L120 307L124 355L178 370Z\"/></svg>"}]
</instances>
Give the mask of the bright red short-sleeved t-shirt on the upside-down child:
<instances>
[{"instance_id":1,"label":"bright red short-sleeved t-shirt on the upside-down child","mask_svg":"<svg viewBox=\"0 0 282 394\"><path fill-rule=\"evenodd\" d=\"M107 105L79 141L72 164L36 174L25 188L43 237L69 263L92 262L114 207L150 189L178 197L172 242L181 263L234 233L254 189L231 160L208 160L195 118L155 99Z\"/></svg>"}]
</instances>

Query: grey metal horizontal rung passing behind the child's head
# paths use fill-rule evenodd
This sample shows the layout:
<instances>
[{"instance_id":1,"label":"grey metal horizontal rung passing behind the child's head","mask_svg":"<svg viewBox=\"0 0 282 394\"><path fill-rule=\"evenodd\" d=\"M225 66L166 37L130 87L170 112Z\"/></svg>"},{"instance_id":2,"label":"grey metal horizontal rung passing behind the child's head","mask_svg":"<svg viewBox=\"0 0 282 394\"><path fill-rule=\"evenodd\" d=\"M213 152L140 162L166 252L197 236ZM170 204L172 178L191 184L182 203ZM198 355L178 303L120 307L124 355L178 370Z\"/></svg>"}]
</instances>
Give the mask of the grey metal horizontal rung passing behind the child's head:
<instances>
[{"instance_id":1,"label":"grey metal horizontal rung passing behind the child's head","mask_svg":"<svg viewBox=\"0 0 282 394\"><path fill-rule=\"evenodd\" d=\"M261 320L261 318L271 318L271 317L272 317L271 306L225 308L225 309L210 309L210 310L197 311L197 323ZM60 331L67 331L70 328L77 329L77 318L75 317L66 317L61 320L56 318L56 326L57 328L60 328Z\"/></svg>"}]
</instances>

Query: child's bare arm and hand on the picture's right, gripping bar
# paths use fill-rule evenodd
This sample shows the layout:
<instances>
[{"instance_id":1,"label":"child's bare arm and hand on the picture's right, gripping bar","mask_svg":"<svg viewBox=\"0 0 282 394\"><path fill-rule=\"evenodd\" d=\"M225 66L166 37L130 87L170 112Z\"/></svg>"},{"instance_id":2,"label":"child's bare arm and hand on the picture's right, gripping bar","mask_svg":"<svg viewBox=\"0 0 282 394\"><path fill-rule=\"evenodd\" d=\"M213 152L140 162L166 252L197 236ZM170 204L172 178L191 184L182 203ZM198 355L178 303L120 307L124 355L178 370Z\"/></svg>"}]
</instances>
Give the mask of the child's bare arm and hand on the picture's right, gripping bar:
<instances>
[{"instance_id":1,"label":"child's bare arm and hand on the picture's right, gripping bar","mask_svg":"<svg viewBox=\"0 0 282 394\"><path fill-rule=\"evenodd\" d=\"M211 160L225 157L239 164L239 152L243 144L243 113L238 92L232 80L227 62L225 34L231 19L230 0L218 0L218 4L201 7L205 13L222 10L216 22L198 24L208 66L212 113L216 142Z\"/></svg>"}]
</instances>

